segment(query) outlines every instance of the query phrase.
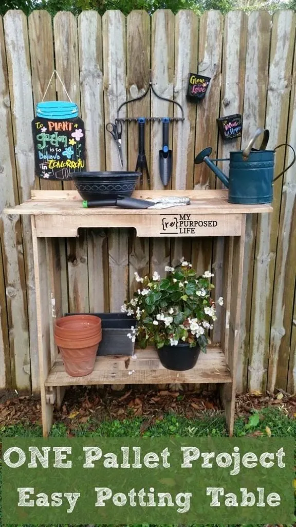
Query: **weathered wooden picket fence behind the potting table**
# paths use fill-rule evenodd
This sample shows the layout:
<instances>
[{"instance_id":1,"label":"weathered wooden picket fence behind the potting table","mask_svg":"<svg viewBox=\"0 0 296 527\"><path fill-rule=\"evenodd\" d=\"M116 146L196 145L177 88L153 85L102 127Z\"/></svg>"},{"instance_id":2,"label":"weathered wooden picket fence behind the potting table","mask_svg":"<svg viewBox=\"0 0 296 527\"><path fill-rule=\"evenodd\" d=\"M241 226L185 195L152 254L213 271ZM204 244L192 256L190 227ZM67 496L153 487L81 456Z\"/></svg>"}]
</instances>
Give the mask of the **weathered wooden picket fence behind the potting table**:
<instances>
[{"instance_id":1,"label":"weathered wooden picket fence behind the potting table","mask_svg":"<svg viewBox=\"0 0 296 527\"><path fill-rule=\"evenodd\" d=\"M221 187L194 154L211 145L213 157L228 157L245 145L257 126L270 130L269 148L286 140L296 146L295 15L242 11L223 17L209 11L134 11L126 18L86 11L78 18L44 11L28 19L9 11L0 24L0 208L22 202L32 188L61 189L34 177L31 121L54 69L85 122L89 170L115 170L119 160L105 123L120 103L144 92L149 70L157 92L183 105L185 122L174 123L173 189ZM189 72L211 77L208 93L186 102ZM65 99L53 81L47 100ZM173 105L147 96L128 105L127 116L172 116ZM216 118L243 114L242 141L223 142ZM178 114L175 113L177 116ZM159 123L146 133L151 188L161 189ZM123 130L125 169L134 170L137 126ZM281 149L276 171L290 160ZM228 163L221 162L224 172ZM248 218L243 275L243 310L238 389L296 391L296 168L274 184L274 212ZM71 183L64 183L70 188ZM144 188L147 178L144 175ZM0 221L0 387L38 391L36 307L29 221L1 215ZM134 271L163 272L181 256L200 271L213 269L221 295L223 239L136 239L128 230L82 232L60 240L63 254L63 310L116 311L135 287ZM53 305L54 308L54 305ZM219 341L216 323L213 340Z\"/></svg>"}]
</instances>

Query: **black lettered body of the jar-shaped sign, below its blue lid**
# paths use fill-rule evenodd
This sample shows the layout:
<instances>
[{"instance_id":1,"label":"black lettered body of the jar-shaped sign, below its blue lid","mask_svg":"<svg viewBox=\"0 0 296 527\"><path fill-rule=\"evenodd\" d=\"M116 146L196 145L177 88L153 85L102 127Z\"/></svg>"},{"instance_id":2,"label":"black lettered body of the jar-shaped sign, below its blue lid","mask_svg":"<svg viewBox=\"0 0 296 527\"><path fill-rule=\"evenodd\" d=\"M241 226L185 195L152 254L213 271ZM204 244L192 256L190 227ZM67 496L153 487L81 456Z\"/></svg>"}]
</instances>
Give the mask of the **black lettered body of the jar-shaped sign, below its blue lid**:
<instances>
[{"instance_id":1,"label":"black lettered body of the jar-shaped sign, below its blue lid","mask_svg":"<svg viewBox=\"0 0 296 527\"><path fill-rule=\"evenodd\" d=\"M35 171L43 179L71 179L85 171L85 129L80 118L32 121Z\"/></svg>"}]
</instances>

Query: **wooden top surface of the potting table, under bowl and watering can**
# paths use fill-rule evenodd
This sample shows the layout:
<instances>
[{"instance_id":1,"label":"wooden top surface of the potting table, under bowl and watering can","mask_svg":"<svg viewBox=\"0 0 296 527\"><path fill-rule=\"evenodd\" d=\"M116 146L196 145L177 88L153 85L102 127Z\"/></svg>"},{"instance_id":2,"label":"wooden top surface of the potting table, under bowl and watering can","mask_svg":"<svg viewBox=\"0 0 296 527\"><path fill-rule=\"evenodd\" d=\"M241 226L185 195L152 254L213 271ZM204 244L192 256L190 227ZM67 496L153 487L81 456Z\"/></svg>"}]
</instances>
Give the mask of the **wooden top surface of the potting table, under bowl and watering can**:
<instances>
[{"instance_id":1,"label":"wooden top surface of the potting table, under bowl and watering can","mask_svg":"<svg viewBox=\"0 0 296 527\"><path fill-rule=\"evenodd\" d=\"M7 208L6 214L29 214L32 216L160 216L169 212L177 214L247 214L271 212L270 204L239 205L229 203L226 190L165 190L135 191L133 197L149 199L160 196L189 197L191 204L168 209L121 209L119 207L98 207L84 209L82 199L76 191L35 190L31 199L24 203Z\"/></svg>"}]
</instances>

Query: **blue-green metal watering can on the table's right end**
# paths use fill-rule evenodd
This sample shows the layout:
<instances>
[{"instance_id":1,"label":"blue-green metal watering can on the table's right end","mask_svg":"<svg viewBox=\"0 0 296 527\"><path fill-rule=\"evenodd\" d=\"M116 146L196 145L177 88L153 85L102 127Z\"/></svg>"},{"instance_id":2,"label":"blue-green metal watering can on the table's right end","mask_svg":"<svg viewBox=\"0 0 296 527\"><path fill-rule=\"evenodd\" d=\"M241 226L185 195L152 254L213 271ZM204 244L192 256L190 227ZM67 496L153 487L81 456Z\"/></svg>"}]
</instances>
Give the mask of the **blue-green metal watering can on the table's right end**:
<instances>
[{"instance_id":1,"label":"blue-green metal watering can on the table's right end","mask_svg":"<svg viewBox=\"0 0 296 527\"><path fill-rule=\"evenodd\" d=\"M253 144L259 135L263 135L260 149L253 149ZM240 204L271 203L273 198L273 182L286 172L296 160L296 154L290 144L279 144L274 150L265 150L269 140L269 131L258 128L248 146L244 150L230 152L230 159L209 158L211 147L202 150L194 162L203 161L210 167L222 183L229 189L228 201ZM289 147L293 151L293 160L287 168L273 179L275 150ZM230 161L229 178L213 163L213 161Z\"/></svg>"}]
</instances>

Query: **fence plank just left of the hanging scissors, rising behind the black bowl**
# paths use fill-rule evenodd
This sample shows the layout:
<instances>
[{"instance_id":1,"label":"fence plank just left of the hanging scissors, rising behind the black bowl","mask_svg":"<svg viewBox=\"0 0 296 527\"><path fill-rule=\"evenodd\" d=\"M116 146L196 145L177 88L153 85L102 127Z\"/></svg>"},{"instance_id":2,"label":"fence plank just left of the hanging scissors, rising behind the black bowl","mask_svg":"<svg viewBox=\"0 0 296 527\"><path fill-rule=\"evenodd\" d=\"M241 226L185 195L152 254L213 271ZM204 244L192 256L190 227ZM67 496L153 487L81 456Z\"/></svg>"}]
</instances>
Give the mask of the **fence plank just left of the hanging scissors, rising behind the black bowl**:
<instances>
[{"instance_id":1,"label":"fence plank just left of the hanging scissors, rising behind the black bowl","mask_svg":"<svg viewBox=\"0 0 296 527\"><path fill-rule=\"evenodd\" d=\"M78 17L81 116L85 125L87 170L105 170L102 19L95 11ZM108 309L107 235L87 232L87 267L91 311Z\"/></svg>"}]
</instances>

